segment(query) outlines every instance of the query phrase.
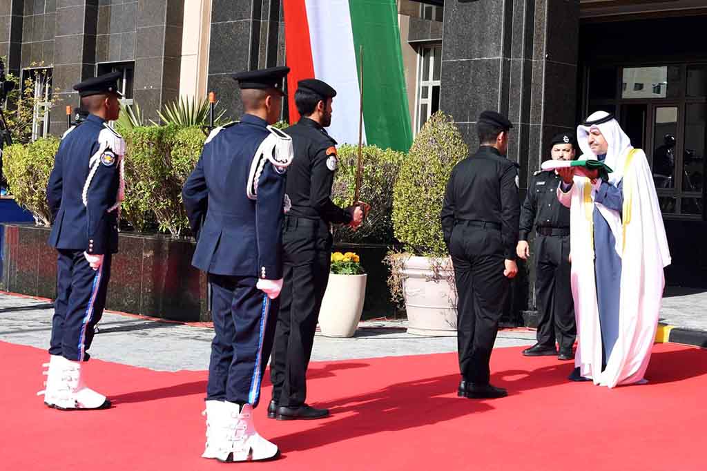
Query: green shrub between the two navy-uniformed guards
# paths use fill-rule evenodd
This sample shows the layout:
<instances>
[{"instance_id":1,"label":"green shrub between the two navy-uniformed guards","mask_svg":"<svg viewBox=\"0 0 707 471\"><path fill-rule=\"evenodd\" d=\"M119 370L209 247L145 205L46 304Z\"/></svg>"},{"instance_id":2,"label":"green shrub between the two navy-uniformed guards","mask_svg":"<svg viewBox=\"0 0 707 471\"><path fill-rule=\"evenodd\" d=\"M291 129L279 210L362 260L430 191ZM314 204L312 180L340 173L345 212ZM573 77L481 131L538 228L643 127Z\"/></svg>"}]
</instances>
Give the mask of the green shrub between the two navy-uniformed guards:
<instances>
[{"instance_id":1,"label":"green shrub between the two navy-uniformed guards","mask_svg":"<svg viewBox=\"0 0 707 471\"><path fill-rule=\"evenodd\" d=\"M125 219L138 231L154 221L158 231L179 237L189 228L182 185L194 169L206 136L198 127L135 127L124 132Z\"/></svg>"}]
</instances>

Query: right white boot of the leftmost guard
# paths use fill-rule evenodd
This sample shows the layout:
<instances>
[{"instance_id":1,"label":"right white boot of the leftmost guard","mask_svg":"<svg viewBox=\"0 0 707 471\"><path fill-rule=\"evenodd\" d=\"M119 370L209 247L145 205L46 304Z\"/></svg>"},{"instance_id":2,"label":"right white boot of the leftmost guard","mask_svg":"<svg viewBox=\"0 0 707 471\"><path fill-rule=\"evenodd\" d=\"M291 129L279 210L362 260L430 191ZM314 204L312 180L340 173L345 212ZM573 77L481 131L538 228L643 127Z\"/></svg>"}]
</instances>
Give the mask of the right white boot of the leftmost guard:
<instances>
[{"instance_id":1,"label":"right white boot of the leftmost guard","mask_svg":"<svg viewBox=\"0 0 707 471\"><path fill-rule=\"evenodd\" d=\"M104 395L87 388L81 361L71 361L59 356L61 383L53 397L54 407L62 410L107 409L110 401Z\"/></svg>"}]
</instances>

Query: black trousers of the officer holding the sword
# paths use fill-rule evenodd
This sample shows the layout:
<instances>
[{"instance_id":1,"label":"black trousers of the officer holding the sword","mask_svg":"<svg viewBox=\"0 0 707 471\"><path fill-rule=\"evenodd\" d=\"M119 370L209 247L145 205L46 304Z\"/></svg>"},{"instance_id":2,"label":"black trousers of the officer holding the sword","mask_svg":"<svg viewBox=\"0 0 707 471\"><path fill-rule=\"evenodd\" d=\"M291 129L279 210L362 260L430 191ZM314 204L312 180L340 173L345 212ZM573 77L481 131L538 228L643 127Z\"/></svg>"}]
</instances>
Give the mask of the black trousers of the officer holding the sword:
<instances>
[{"instance_id":1,"label":"black trousers of the officer holding the sword","mask_svg":"<svg viewBox=\"0 0 707 471\"><path fill-rule=\"evenodd\" d=\"M332 234L322 220L286 217L282 236L284 285L270 364L272 398L298 407L307 398L307 367L329 281Z\"/></svg>"}]
</instances>

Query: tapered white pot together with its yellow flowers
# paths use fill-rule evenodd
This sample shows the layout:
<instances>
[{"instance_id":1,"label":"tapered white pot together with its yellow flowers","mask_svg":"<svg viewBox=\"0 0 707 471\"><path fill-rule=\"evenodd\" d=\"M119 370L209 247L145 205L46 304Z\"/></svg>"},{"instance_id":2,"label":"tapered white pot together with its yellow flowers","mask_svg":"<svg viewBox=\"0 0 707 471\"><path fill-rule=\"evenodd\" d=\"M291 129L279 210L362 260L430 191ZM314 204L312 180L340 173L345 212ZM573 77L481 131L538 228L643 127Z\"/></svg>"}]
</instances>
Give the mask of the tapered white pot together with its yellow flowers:
<instances>
[{"instance_id":1,"label":"tapered white pot together with its yellow flowers","mask_svg":"<svg viewBox=\"0 0 707 471\"><path fill-rule=\"evenodd\" d=\"M366 274L354 252L332 253L329 284L319 310L319 327L326 337L353 337L366 298ZM348 302L342 302L347 300Z\"/></svg>"}]
</instances>

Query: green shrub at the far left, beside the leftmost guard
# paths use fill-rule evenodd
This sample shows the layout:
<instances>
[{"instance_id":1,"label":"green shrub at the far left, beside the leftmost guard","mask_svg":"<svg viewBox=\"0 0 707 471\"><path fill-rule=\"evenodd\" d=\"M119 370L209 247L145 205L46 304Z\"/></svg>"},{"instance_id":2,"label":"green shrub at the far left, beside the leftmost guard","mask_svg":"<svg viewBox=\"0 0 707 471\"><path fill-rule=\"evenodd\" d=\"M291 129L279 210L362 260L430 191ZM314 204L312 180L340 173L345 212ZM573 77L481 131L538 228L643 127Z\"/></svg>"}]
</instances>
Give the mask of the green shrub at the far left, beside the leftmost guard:
<instances>
[{"instance_id":1,"label":"green shrub at the far left, beside the leftmost guard","mask_svg":"<svg viewBox=\"0 0 707 471\"><path fill-rule=\"evenodd\" d=\"M47 204L47 182L54 167L59 139L38 139L31 144L13 144L4 150L3 171L15 201L32 211L37 224L49 226L52 213Z\"/></svg>"}]
</instances>

